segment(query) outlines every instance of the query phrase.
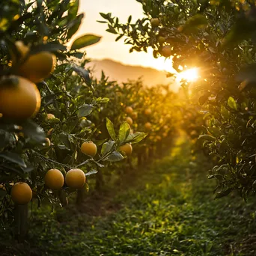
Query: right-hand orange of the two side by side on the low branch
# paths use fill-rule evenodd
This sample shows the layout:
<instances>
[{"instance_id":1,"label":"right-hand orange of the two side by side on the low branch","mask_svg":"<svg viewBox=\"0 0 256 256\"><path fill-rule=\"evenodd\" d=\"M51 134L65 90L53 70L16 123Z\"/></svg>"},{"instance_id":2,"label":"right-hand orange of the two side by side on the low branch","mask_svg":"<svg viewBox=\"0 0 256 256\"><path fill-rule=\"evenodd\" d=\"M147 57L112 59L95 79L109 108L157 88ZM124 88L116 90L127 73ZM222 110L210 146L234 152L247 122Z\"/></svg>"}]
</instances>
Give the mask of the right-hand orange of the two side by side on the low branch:
<instances>
[{"instance_id":1,"label":"right-hand orange of the two side by side on the low branch","mask_svg":"<svg viewBox=\"0 0 256 256\"><path fill-rule=\"evenodd\" d=\"M71 169L70 171L67 171L66 177L65 177L67 186L69 186L72 189L81 189L82 186L85 184L85 173L80 169Z\"/></svg>"}]
</instances>

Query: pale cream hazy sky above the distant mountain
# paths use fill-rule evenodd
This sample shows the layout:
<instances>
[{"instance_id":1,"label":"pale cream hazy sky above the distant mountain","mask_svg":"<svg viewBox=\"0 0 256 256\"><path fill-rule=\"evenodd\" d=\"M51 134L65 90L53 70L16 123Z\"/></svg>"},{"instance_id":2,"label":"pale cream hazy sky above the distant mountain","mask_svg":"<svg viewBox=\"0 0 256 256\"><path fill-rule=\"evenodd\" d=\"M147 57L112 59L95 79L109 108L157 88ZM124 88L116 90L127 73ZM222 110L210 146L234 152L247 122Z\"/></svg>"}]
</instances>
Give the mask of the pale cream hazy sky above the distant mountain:
<instances>
[{"instance_id":1,"label":"pale cream hazy sky above the distant mountain","mask_svg":"<svg viewBox=\"0 0 256 256\"><path fill-rule=\"evenodd\" d=\"M135 0L80 0L79 13L85 13L85 19L76 36L97 34L103 37L97 45L86 48L89 58L112 58L124 64L154 67L159 70L171 70L171 61L166 62L165 58L153 58L151 49L148 53L129 53L130 46L124 45L124 40L115 42L117 35L106 32L107 25L97 22L97 20L103 20L100 12L112 13L114 16L118 16L121 22L127 22L130 14L132 14L132 20L143 16L141 4Z\"/></svg>"}]
</instances>

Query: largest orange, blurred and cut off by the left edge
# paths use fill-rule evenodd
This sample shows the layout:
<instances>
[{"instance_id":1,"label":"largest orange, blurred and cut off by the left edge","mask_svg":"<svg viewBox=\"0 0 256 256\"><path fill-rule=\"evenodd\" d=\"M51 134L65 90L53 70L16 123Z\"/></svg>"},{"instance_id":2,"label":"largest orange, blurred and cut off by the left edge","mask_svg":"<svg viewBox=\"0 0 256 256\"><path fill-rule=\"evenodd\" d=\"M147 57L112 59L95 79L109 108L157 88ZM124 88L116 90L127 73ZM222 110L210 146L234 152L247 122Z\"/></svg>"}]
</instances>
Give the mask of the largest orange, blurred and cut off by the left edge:
<instances>
[{"instance_id":1,"label":"largest orange, blurred and cut off by the left edge","mask_svg":"<svg viewBox=\"0 0 256 256\"><path fill-rule=\"evenodd\" d=\"M9 76L0 82L0 113L4 118L31 118L37 114L40 105L40 92L28 79Z\"/></svg>"}]
</instances>

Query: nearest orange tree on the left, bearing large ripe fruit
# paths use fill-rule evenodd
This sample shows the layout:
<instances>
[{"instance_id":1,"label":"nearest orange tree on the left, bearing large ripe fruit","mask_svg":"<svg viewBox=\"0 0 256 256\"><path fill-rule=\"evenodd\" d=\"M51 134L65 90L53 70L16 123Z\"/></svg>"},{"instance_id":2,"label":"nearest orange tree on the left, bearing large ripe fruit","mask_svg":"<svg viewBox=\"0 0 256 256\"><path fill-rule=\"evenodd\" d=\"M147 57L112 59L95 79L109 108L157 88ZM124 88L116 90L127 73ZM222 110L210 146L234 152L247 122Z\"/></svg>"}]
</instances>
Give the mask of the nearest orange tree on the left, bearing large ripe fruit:
<instances>
[{"instance_id":1,"label":"nearest orange tree on the left, bearing large ripe fruit","mask_svg":"<svg viewBox=\"0 0 256 256\"><path fill-rule=\"evenodd\" d=\"M121 145L146 135L130 134L127 122L115 132L112 121L95 118L109 99L79 49L100 37L85 34L66 46L82 22L78 8L69 0L1 1L0 216L4 224L15 213L18 234L32 197L39 206L67 204L71 192L88 189L88 175L124 159ZM108 133L97 140L103 123Z\"/></svg>"}]
</instances>

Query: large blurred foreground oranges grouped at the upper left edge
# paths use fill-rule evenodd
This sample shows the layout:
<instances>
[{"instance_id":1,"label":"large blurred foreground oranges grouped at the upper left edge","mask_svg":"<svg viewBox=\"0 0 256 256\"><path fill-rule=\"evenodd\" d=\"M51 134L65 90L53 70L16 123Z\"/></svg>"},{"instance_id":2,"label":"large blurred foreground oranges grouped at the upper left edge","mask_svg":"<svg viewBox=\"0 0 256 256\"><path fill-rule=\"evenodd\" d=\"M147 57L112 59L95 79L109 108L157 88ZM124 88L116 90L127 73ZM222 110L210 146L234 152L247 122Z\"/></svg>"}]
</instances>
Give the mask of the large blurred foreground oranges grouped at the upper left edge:
<instances>
[{"instance_id":1,"label":"large blurred foreground oranges grouped at the upper left edge","mask_svg":"<svg viewBox=\"0 0 256 256\"><path fill-rule=\"evenodd\" d=\"M41 97L35 83L54 70L55 55L51 52L31 54L22 41L16 41L19 58L11 52L13 75L0 81L1 117L22 121L34 117L40 109Z\"/></svg>"}]
</instances>

